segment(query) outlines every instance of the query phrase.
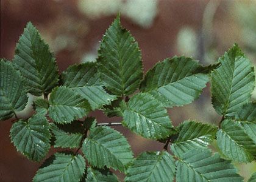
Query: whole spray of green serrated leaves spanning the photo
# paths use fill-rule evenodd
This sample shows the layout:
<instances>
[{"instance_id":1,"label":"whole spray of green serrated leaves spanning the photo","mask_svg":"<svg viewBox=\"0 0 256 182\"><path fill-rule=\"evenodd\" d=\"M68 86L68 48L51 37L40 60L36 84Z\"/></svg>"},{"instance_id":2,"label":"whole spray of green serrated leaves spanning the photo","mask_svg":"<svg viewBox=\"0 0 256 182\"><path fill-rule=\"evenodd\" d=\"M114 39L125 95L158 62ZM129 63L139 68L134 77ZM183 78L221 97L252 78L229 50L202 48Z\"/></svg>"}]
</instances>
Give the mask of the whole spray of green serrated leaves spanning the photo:
<instances>
[{"instance_id":1,"label":"whole spray of green serrated leaves spanning the photo","mask_svg":"<svg viewBox=\"0 0 256 182\"><path fill-rule=\"evenodd\" d=\"M48 45L29 22L13 61L1 60L0 119L15 116L10 137L16 149L33 161L43 160L51 146L77 149L49 157L34 181L118 181L110 168L126 174L125 181L243 181L231 161L256 159L256 104L251 101L254 68L238 45L213 66L174 56L143 78L138 43L118 16L98 54L96 62L70 66L59 75ZM219 127L196 121L172 126L166 109L191 103L210 80L213 107L222 116ZM40 96L35 114L18 120L27 93ZM121 116L120 124L165 143L164 149L133 158L126 138L111 124L87 117L96 109ZM213 140L222 157L208 149ZM256 174L249 181L255 179Z\"/></svg>"}]
</instances>

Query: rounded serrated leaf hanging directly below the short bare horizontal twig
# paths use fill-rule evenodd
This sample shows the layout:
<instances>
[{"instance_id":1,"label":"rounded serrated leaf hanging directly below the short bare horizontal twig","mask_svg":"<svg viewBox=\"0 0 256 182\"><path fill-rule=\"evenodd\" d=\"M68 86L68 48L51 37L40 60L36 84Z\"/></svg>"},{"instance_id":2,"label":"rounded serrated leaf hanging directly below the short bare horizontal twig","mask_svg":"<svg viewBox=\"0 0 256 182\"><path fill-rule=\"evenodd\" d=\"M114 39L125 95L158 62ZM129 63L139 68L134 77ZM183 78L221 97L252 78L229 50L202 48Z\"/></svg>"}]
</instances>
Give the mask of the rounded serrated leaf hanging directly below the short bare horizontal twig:
<instances>
[{"instance_id":1,"label":"rounded serrated leaf hanging directly below the short bare horizontal twig","mask_svg":"<svg viewBox=\"0 0 256 182\"><path fill-rule=\"evenodd\" d=\"M95 127L85 139L82 150L93 167L112 167L124 172L133 153L126 138L118 131L107 127Z\"/></svg>"}]
</instances>

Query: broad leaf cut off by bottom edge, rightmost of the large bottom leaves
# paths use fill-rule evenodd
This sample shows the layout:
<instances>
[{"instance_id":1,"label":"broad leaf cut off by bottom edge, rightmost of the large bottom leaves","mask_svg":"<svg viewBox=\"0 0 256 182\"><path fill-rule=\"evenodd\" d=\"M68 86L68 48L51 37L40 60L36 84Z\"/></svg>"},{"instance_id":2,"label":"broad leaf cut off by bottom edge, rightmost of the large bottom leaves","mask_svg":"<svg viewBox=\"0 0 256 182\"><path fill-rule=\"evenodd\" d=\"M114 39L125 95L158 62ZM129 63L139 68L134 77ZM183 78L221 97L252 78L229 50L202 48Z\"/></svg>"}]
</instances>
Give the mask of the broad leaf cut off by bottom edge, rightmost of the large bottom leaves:
<instances>
[{"instance_id":1,"label":"broad leaf cut off by bottom edge, rightmost of the large bottom leaves","mask_svg":"<svg viewBox=\"0 0 256 182\"><path fill-rule=\"evenodd\" d=\"M231 161L208 149L189 150L176 161L176 181L243 181Z\"/></svg>"}]
</instances>

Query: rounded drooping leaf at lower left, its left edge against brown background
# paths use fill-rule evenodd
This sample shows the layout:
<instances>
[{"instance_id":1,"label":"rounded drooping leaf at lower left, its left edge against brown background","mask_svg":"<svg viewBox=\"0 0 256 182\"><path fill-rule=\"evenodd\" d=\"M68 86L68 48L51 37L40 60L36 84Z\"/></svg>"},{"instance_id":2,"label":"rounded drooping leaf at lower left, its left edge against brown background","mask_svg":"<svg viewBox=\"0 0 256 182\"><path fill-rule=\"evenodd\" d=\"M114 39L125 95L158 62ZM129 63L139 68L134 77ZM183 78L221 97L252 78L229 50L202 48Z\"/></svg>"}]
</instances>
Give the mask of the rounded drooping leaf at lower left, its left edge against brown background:
<instances>
[{"instance_id":1,"label":"rounded drooping leaf at lower left, its left edge against brown background","mask_svg":"<svg viewBox=\"0 0 256 182\"><path fill-rule=\"evenodd\" d=\"M50 148L48 121L40 114L33 115L28 121L20 120L14 123L10 136L16 149L30 160L42 160Z\"/></svg>"}]
</instances>

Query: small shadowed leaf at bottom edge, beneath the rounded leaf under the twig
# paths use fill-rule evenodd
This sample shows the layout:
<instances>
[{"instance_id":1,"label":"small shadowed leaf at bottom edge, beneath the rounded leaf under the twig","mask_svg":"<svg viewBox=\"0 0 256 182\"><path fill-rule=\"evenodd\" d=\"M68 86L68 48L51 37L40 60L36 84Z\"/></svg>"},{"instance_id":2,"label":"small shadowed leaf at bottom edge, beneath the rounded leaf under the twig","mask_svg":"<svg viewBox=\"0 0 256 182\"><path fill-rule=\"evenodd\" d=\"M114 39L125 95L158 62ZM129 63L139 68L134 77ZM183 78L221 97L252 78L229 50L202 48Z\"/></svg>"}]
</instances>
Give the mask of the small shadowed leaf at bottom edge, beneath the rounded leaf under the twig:
<instances>
[{"instance_id":1,"label":"small shadowed leaf at bottom edge, beneath the rounded leaf under the twig","mask_svg":"<svg viewBox=\"0 0 256 182\"><path fill-rule=\"evenodd\" d=\"M87 169L87 182L118 182L115 174L109 169L94 169L88 167Z\"/></svg>"}]
</instances>

